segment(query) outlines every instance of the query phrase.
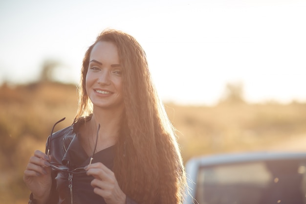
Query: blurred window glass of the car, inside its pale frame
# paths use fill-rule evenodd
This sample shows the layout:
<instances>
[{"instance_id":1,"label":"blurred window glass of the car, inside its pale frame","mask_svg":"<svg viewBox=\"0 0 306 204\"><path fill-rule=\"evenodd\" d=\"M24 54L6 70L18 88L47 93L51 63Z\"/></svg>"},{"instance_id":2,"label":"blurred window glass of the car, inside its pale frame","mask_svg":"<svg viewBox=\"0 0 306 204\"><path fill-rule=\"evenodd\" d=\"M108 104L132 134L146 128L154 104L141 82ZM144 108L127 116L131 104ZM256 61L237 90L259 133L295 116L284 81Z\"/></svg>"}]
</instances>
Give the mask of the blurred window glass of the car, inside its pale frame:
<instances>
[{"instance_id":1,"label":"blurred window glass of the car, inside its pale frame","mask_svg":"<svg viewBox=\"0 0 306 204\"><path fill-rule=\"evenodd\" d=\"M199 204L306 204L306 165L299 160L202 166L197 175Z\"/></svg>"}]
</instances>

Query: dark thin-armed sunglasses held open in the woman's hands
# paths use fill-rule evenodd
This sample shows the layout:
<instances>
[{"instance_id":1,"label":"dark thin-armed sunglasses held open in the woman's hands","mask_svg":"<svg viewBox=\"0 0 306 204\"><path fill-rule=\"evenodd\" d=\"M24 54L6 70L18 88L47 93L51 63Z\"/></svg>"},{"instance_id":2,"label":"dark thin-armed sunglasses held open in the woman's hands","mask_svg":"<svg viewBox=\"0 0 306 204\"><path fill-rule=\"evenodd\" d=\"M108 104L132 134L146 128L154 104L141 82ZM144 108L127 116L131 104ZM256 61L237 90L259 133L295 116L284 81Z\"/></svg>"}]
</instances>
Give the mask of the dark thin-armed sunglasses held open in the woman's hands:
<instances>
[{"instance_id":1,"label":"dark thin-armed sunglasses held open in the woman's hands","mask_svg":"<svg viewBox=\"0 0 306 204\"><path fill-rule=\"evenodd\" d=\"M50 155L50 149L51 149L50 141L51 141L51 138L52 138L52 135L53 135L54 127L55 127L58 123L62 122L62 121L65 120L65 119L66 119L66 117L60 119L59 121L57 121L57 122L53 125L53 128L52 128L52 130L51 130L51 134L50 134L50 136L48 137L48 146L47 146L47 155L48 155L48 156ZM94 145L93 153L92 153L92 156L90 157L89 164L91 164L91 161L93 160L93 155L94 155L94 153L95 153L95 151L96 151L96 148L97 148L99 130L100 130L100 124L98 125L97 136L96 136L96 143L95 143L95 145ZM57 170L57 171L66 172L66 173L70 173L70 174L83 174L83 173L86 173L86 170L84 169L84 167L79 167L79 168L75 168L75 169L70 169L69 167L67 167L66 165L61 164L61 163L50 162L50 164L51 164L51 168L52 168L52 169L55 169L55 170Z\"/></svg>"}]
</instances>

